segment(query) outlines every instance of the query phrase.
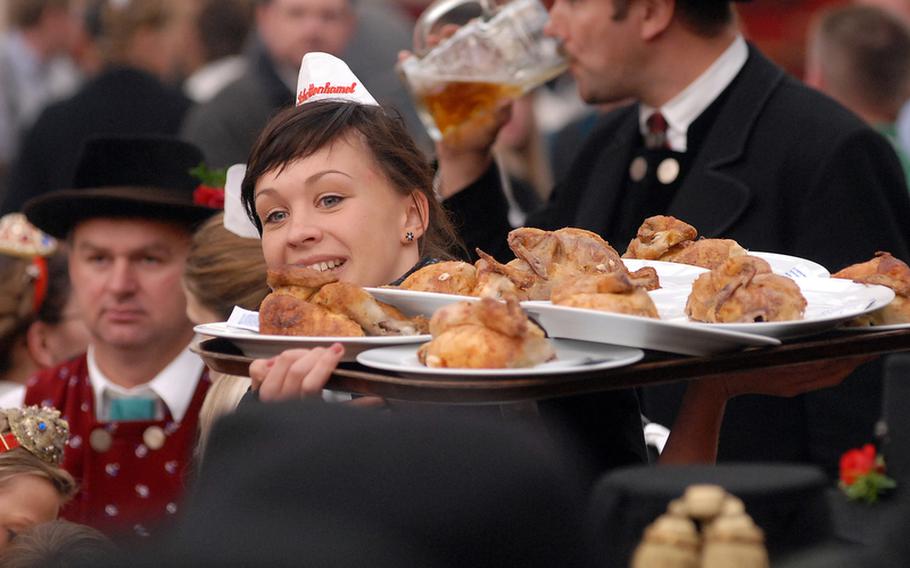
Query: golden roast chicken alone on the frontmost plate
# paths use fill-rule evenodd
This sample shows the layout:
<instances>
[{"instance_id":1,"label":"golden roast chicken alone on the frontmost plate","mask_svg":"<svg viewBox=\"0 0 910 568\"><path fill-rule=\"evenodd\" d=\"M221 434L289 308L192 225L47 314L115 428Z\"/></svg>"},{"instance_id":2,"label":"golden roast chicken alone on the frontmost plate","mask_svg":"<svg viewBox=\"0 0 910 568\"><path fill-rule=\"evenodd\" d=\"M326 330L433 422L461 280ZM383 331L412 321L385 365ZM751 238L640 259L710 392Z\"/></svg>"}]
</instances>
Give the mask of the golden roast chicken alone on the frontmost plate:
<instances>
[{"instance_id":1,"label":"golden roast chicken alone on the frontmost plate","mask_svg":"<svg viewBox=\"0 0 910 568\"><path fill-rule=\"evenodd\" d=\"M555 355L543 331L514 300L482 298L446 306L430 320L430 333L433 340L417 352L428 367L532 367Z\"/></svg>"}]
</instances>

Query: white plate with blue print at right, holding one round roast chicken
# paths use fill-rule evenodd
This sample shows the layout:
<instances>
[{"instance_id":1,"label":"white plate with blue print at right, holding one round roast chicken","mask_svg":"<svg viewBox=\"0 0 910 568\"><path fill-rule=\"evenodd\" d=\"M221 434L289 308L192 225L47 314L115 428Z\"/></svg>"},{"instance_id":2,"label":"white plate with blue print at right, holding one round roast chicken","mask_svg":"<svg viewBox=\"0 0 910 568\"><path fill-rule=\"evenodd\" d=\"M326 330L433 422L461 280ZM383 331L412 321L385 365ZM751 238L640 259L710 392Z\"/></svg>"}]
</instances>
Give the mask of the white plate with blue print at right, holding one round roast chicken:
<instances>
[{"instance_id":1,"label":"white plate with blue print at right, holding one round roast chicken","mask_svg":"<svg viewBox=\"0 0 910 568\"><path fill-rule=\"evenodd\" d=\"M680 290L649 292L662 320L725 331L765 335L768 337L798 337L837 327L856 316L882 308L894 299L894 291L885 286L857 284L839 278L794 278L806 298L803 319L760 323L701 323L686 316L689 294Z\"/></svg>"}]
</instances>

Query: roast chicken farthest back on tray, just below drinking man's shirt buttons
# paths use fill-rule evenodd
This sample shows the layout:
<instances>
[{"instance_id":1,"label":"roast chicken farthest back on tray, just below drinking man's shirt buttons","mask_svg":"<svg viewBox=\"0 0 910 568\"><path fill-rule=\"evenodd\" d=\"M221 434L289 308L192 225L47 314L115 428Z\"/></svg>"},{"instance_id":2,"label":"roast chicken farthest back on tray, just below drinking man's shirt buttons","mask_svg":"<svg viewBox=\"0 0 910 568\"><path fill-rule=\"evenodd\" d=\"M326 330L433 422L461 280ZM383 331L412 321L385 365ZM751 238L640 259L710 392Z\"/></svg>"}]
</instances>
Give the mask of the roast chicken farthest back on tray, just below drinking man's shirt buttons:
<instances>
[{"instance_id":1,"label":"roast chicken farthest back on tray, just below drinking man's shirt buttons","mask_svg":"<svg viewBox=\"0 0 910 568\"><path fill-rule=\"evenodd\" d=\"M662 260L713 270L728 258L744 256L746 249L731 239L698 239L695 227L676 217L648 217L629 243L623 258Z\"/></svg>"}]
</instances>

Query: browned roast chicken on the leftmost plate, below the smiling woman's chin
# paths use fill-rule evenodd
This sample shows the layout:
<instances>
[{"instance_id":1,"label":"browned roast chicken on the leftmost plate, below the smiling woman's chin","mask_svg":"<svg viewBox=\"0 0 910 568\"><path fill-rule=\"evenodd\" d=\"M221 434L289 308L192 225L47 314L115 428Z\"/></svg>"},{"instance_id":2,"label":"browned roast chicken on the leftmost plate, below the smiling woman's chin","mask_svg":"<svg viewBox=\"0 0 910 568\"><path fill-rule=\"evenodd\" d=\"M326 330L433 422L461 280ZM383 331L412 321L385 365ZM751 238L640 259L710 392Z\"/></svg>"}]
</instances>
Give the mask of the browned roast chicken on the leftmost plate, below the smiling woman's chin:
<instances>
[{"instance_id":1,"label":"browned roast chicken on the leftmost plate, below the smiling woman's chin","mask_svg":"<svg viewBox=\"0 0 910 568\"><path fill-rule=\"evenodd\" d=\"M425 333L423 318L407 318L330 274L289 267L270 270L268 283L272 293L259 306L260 333L323 337Z\"/></svg>"}]
</instances>

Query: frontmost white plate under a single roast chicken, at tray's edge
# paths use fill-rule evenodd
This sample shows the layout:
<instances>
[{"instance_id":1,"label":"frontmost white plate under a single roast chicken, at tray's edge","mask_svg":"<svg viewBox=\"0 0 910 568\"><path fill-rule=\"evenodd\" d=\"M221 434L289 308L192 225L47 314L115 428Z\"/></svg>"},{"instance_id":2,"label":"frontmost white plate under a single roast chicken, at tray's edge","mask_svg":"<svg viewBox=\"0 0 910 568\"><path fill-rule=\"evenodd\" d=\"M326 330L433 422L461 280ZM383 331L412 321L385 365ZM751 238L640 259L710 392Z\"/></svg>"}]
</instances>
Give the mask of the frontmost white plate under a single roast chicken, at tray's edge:
<instances>
[{"instance_id":1,"label":"frontmost white plate under a single roast chicken, at tray's edge","mask_svg":"<svg viewBox=\"0 0 910 568\"><path fill-rule=\"evenodd\" d=\"M554 339L551 341L556 349L555 360L522 369L438 369L427 367L417 359L417 347L413 345L370 349L358 355L357 362L367 367L394 371L402 375L415 377L504 378L566 375L612 369L637 363L645 355L641 349L617 347L589 341L573 341L571 339Z\"/></svg>"}]
</instances>

